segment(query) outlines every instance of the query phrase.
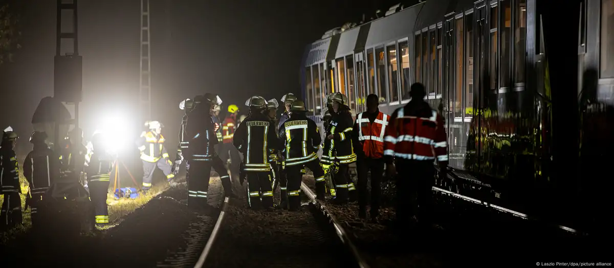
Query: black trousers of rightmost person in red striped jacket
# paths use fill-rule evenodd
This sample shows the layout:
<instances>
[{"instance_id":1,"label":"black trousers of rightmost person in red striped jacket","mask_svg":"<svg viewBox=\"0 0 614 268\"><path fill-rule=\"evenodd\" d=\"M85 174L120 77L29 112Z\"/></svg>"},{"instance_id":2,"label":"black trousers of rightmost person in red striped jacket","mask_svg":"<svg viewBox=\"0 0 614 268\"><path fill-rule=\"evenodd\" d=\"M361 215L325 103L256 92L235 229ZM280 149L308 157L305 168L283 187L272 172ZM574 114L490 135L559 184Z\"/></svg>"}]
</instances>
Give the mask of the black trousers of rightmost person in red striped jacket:
<instances>
[{"instance_id":1,"label":"black trousers of rightmost person in red striped jacket","mask_svg":"<svg viewBox=\"0 0 614 268\"><path fill-rule=\"evenodd\" d=\"M433 177L432 161L398 159L397 166L397 219L402 224L416 215L420 225L432 220ZM417 211L416 208L418 207Z\"/></svg>"}]
</instances>

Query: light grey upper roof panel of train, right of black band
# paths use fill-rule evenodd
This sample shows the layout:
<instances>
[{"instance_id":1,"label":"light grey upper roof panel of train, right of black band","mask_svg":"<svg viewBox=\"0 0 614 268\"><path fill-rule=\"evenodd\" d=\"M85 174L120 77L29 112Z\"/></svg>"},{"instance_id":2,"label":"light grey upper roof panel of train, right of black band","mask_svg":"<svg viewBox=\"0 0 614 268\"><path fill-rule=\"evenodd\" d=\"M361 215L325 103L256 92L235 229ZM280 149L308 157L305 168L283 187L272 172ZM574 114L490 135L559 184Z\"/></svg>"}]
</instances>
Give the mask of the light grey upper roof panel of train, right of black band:
<instances>
[{"instance_id":1,"label":"light grey upper roof panel of train, right of black band","mask_svg":"<svg viewBox=\"0 0 614 268\"><path fill-rule=\"evenodd\" d=\"M408 37L414 31L416 18L424 4L422 2L379 20L371 21L371 29L365 47L373 47L384 42Z\"/></svg>"}]
</instances>

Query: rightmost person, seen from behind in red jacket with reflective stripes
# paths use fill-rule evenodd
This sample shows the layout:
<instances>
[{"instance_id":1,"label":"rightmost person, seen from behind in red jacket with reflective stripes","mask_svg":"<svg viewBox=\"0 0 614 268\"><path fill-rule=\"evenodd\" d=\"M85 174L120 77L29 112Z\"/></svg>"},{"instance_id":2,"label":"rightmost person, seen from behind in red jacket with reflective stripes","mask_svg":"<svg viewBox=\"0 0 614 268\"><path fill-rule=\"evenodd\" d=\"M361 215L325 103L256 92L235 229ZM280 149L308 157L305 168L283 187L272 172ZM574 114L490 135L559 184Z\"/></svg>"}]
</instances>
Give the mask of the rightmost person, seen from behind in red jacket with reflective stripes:
<instances>
[{"instance_id":1,"label":"rightmost person, seen from behind in red jacket with reflective stripes","mask_svg":"<svg viewBox=\"0 0 614 268\"><path fill-rule=\"evenodd\" d=\"M422 84L411 85L410 102L392 113L384 136L386 174L397 176L399 226L410 223L414 196L418 202L418 224L423 227L430 225L431 188L435 175L433 160L437 159L442 177L446 177L448 167L443 117L424 102L425 94ZM392 165L393 161L395 165Z\"/></svg>"}]
</instances>

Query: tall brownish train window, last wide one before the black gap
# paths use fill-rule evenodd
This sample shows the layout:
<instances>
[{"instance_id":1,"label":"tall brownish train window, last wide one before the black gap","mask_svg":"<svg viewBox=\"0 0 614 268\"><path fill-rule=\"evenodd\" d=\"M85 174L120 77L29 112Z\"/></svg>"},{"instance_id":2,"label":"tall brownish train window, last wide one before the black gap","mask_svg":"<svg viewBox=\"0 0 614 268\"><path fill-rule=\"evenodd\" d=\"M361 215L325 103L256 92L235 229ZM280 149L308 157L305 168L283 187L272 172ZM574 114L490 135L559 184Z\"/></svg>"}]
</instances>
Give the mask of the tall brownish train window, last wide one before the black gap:
<instances>
[{"instance_id":1,"label":"tall brownish train window, last wide one before the black gap","mask_svg":"<svg viewBox=\"0 0 614 268\"><path fill-rule=\"evenodd\" d=\"M514 80L524 83L524 65L527 51L527 0L516 2L516 21L514 23Z\"/></svg>"}]
</instances>

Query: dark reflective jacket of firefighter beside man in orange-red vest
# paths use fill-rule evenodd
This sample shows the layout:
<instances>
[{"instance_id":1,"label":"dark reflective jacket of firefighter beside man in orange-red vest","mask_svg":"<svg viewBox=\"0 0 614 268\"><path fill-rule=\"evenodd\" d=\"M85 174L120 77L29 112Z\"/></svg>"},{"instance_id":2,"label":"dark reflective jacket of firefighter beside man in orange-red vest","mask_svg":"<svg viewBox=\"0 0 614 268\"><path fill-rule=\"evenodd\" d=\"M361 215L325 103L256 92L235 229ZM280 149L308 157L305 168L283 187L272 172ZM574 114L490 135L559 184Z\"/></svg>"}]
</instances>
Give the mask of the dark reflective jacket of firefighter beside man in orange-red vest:
<instances>
[{"instance_id":1,"label":"dark reflective jacket of firefighter beside man in orange-red vest","mask_svg":"<svg viewBox=\"0 0 614 268\"><path fill-rule=\"evenodd\" d=\"M333 140L327 140L322 152L322 162L330 164L337 161L341 164L356 162L355 146L359 146L358 139L352 135L354 120L349 113L340 113L333 116L328 124L327 135L333 135ZM359 149L360 150L360 149ZM362 151L362 150L360 150Z\"/></svg>"}]
</instances>

